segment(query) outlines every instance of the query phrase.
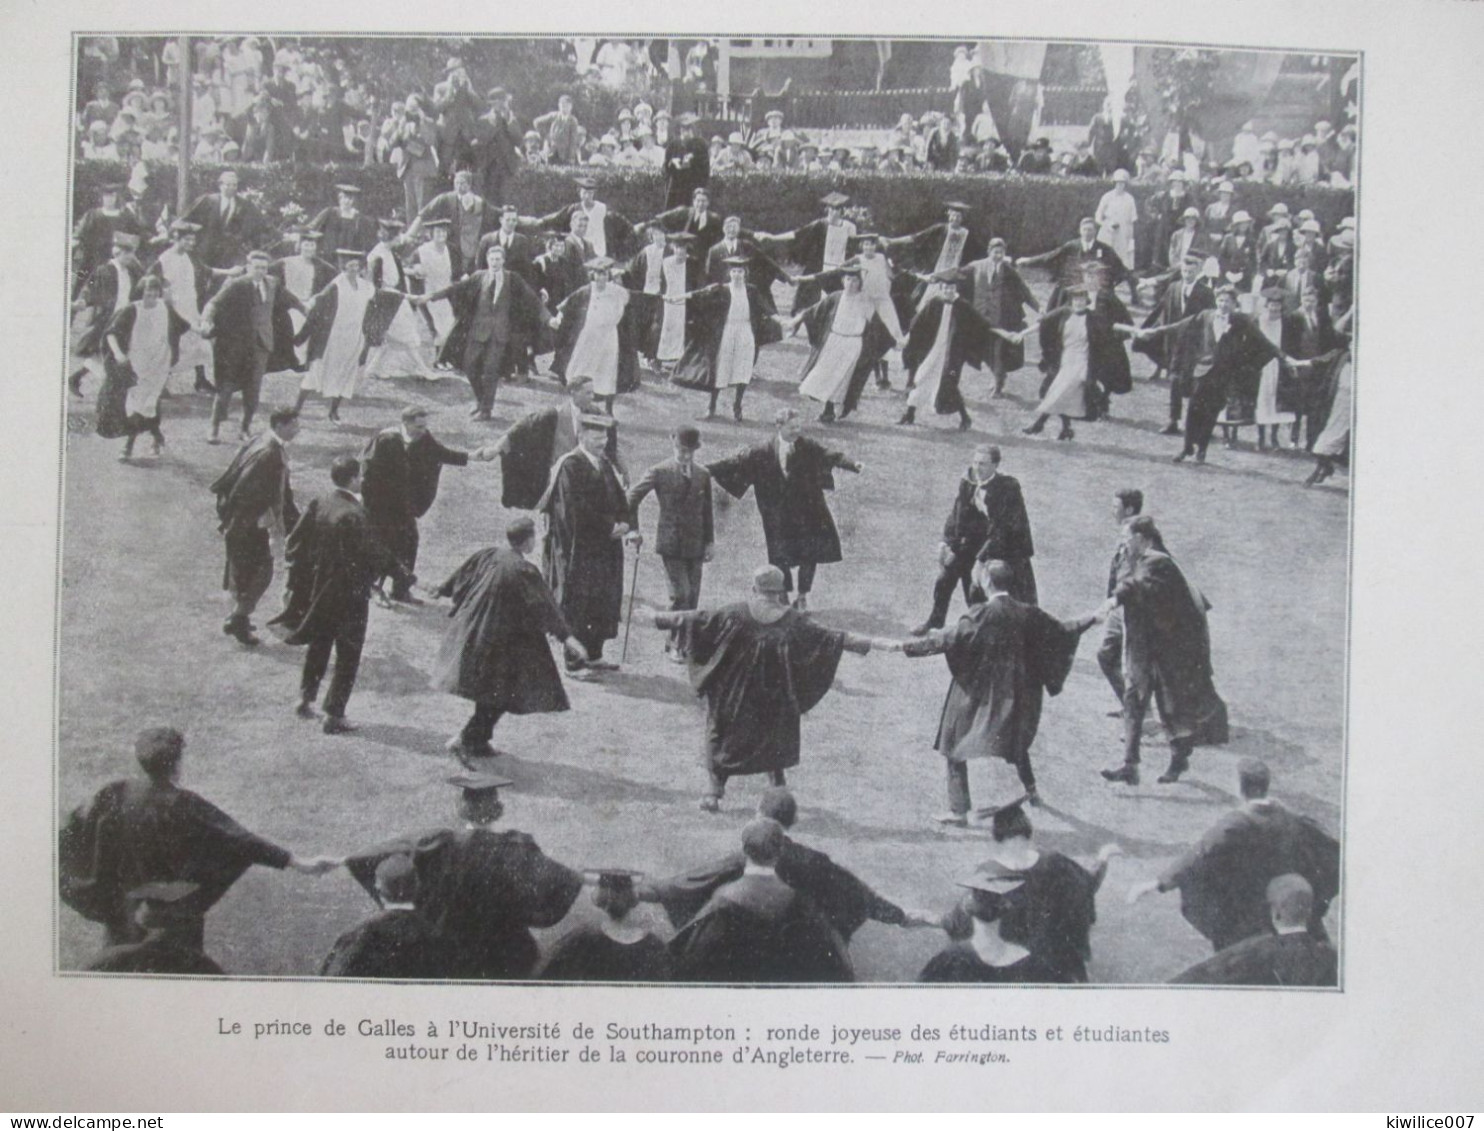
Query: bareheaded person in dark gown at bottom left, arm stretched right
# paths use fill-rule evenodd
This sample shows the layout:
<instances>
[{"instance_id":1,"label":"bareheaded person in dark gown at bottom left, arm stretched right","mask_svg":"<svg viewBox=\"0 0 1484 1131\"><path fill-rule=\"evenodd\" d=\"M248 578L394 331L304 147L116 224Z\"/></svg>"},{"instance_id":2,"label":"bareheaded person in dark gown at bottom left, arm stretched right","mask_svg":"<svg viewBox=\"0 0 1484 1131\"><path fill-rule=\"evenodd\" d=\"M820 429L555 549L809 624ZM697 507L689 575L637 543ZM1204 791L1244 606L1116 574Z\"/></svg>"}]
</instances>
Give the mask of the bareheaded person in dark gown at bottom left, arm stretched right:
<instances>
[{"instance_id":1,"label":"bareheaded person in dark gown at bottom left, arm stretched right","mask_svg":"<svg viewBox=\"0 0 1484 1131\"><path fill-rule=\"evenodd\" d=\"M312 876L335 867L337 861L301 859L183 790L186 738L178 730L142 730L134 753L144 776L110 782L77 806L62 824L56 852L62 902L102 923L110 945L142 938L138 899L131 895L141 885L196 885L175 910L190 920L181 923L183 937L200 950L206 911L254 864Z\"/></svg>"}]
</instances>

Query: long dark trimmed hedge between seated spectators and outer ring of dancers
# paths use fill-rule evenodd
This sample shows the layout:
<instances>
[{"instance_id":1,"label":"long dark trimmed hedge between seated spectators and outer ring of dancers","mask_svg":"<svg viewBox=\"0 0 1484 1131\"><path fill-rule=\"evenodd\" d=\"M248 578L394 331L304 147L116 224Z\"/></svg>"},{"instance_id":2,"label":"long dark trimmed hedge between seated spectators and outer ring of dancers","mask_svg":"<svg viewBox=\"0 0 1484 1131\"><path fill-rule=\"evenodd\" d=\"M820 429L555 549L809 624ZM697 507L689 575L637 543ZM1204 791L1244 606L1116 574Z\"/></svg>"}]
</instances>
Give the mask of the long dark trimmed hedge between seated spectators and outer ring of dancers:
<instances>
[{"instance_id":1,"label":"long dark trimmed hedge between seated spectators and outer ring of dancers","mask_svg":"<svg viewBox=\"0 0 1484 1131\"><path fill-rule=\"evenodd\" d=\"M245 190L260 191L270 217L283 205L297 202L310 215L335 199L334 186L353 181L364 190L362 208L375 215L401 209L402 187L387 166L343 165L236 165ZM193 168L193 194L215 187L217 168ZM649 169L583 169L598 183L598 194L610 208L638 221L654 215L665 202L662 178ZM122 180L125 171L113 162L77 162L73 214L80 217L96 199L104 180ZM527 168L509 184L506 196L525 214L552 212L576 199L573 168ZM150 197L159 205L175 200L177 171L172 165L151 166ZM887 235L928 227L942 218L942 202L963 200L974 208L974 221L985 235L1002 236L1015 255L1034 255L1071 239L1077 220L1091 215L1109 190L1107 181L1092 178L1006 177L916 172L916 174L809 174L792 171L726 174L712 180L712 208L736 211L748 227L761 232L788 232L821 214L819 197L840 190L853 205L867 209L870 223ZM1156 191L1152 186L1131 186L1143 202ZM1297 212L1313 209L1331 230L1342 217L1353 215L1355 197L1349 188L1239 183L1236 206L1254 217L1282 200Z\"/></svg>"}]
</instances>

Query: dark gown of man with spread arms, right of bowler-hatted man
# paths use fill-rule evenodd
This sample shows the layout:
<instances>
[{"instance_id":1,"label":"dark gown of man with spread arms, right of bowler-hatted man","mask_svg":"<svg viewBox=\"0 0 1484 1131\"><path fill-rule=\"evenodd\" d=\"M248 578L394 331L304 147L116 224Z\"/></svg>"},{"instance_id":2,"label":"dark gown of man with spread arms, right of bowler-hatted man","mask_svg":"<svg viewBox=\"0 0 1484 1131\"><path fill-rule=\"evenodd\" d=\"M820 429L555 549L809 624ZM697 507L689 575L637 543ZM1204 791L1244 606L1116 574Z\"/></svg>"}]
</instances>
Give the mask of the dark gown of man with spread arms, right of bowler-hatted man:
<instances>
[{"instance_id":1,"label":"dark gown of man with spread arms, right of bowler-hatted man","mask_svg":"<svg viewBox=\"0 0 1484 1131\"><path fill-rule=\"evenodd\" d=\"M825 502L825 491L834 490L835 468L859 471L849 456L807 436L794 441L787 475L778 462L776 438L708 465L711 478L735 499L752 488L767 560L775 566L840 561L840 534Z\"/></svg>"}]
</instances>

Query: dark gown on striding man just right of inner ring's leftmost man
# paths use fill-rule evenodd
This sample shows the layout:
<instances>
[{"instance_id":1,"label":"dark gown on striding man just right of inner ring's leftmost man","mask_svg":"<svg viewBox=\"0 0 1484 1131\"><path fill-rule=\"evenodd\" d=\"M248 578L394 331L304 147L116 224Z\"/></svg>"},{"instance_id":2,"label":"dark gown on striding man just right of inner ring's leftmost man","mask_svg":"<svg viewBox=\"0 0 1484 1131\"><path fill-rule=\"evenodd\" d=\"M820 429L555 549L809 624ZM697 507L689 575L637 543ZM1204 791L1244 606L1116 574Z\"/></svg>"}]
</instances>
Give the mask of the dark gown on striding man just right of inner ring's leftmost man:
<instances>
[{"instance_id":1,"label":"dark gown on striding man just right of inner ring's leftmost man","mask_svg":"<svg viewBox=\"0 0 1484 1131\"><path fill-rule=\"evenodd\" d=\"M371 585L401 573L380 539L372 537L365 508L335 490L312 499L283 545L288 586L283 612L270 623L288 629L289 644L309 644L355 620L365 620Z\"/></svg>"}]
</instances>

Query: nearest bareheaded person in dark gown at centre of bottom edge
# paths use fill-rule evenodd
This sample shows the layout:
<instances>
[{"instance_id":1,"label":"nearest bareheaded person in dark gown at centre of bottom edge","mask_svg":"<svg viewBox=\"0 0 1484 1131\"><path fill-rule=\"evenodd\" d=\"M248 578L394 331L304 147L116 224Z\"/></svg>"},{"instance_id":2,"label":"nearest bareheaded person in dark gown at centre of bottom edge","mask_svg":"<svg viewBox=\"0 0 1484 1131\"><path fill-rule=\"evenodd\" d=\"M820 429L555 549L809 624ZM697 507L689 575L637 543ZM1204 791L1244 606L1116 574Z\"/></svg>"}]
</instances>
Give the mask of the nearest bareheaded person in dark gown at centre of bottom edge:
<instances>
[{"instance_id":1,"label":"nearest bareheaded person in dark gown at centre of bottom edge","mask_svg":"<svg viewBox=\"0 0 1484 1131\"><path fill-rule=\"evenodd\" d=\"M757 819L742 830L746 865L671 941L675 981L849 983L844 941L815 902L778 877L784 828Z\"/></svg>"}]
</instances>

